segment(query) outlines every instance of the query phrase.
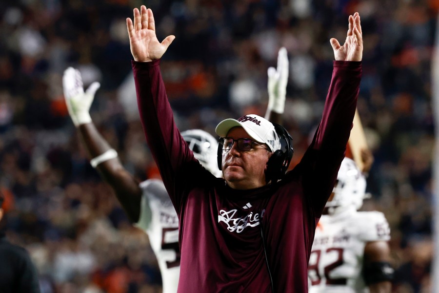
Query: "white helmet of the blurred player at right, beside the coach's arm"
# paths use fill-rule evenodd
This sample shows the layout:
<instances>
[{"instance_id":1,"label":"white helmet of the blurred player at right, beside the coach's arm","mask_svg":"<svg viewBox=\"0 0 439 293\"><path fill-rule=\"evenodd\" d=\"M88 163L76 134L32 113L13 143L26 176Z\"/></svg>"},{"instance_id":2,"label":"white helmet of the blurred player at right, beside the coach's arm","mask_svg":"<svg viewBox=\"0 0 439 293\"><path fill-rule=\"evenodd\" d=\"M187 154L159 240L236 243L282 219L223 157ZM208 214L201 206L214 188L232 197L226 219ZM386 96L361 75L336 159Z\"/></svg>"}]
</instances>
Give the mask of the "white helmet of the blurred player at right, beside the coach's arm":
<instances>
[{"instance_id":1,"label":"white helmet of the blurred player at right, beside the coach's arm","mask_svg":"<svg viewBox=\"0 0 439 293\"><path fill-rule=\"evenodd\" d=\"M345 157L341 162L332 199L330 197L325 207L329 208L330 214L351 207L358 210L363 205L364 198L366 198L366 178L357 164Z\"/></svg>"}]
</instances>

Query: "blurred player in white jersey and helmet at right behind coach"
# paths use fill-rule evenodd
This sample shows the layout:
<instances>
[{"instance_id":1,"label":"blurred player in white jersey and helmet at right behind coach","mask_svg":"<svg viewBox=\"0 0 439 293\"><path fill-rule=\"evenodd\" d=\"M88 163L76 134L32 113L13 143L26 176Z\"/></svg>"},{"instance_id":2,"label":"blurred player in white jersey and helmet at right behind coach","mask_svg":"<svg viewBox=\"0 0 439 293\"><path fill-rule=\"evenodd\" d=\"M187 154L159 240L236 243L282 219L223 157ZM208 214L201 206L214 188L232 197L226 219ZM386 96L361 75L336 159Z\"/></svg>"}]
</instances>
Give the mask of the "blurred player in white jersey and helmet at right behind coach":
<instances>
[{"instance_id":1,"label":"blurred player in white jersey and helmet at right behind coach","mask_svg":"<svg viewBox=\"0 0 439 293\"><path fill-rule=\"evenodd\" d=\"M390 228L379 211L358 211L366 180L344 158L333 195L320 218L308 264L310 293L389 293Z\"/></svg>"}]
</instances>

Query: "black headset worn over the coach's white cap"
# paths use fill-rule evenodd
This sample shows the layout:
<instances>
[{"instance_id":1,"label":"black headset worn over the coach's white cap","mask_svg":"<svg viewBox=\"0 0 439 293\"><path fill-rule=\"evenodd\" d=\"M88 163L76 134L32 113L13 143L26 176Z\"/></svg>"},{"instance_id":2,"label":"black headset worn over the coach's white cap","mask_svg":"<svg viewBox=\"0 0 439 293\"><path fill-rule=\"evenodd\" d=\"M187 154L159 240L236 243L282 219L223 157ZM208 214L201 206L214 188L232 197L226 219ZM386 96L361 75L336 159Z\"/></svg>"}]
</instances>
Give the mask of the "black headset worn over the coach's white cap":
<instances>
[{"instance_id":1,"label":"black headset worn over the coach's white cap","mask_svg":"<svg viewBox=\"0 0 439 293\"><path fill-rule=\"evenodd\" d=\"M285 176L285 172L290 165L293 157L293 138L288 131L279 124L273 123L275 131L279 136L280 149L276 150L267 162L267 170L265 171L266 182L278 182ZM221 170L222 163L222 145L218 144L217 150L218 168Z\"/></svg>"}]
</instances>

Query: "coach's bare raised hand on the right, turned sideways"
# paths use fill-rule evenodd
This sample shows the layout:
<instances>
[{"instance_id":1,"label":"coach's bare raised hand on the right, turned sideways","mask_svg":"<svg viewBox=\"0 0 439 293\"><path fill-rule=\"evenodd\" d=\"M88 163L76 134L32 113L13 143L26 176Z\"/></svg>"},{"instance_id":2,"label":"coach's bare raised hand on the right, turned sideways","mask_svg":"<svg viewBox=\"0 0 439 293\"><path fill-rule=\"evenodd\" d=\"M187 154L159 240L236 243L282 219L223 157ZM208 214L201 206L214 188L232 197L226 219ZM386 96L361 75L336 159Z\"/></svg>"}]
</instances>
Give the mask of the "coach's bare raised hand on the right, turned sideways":
<instances>
[{"instance_id":1,"label":"coach's bare raised hand on the right, turned sideways","mask_svg":"<svg viewBox=\"0 0 439 293\"><path fill-rule=\"evenodd\" d=\"M330 40L337 61L361 61L363 57L363 37L358 12L349 16L349 29L346 41L340 46L337 39Z\"/></svg>"}]
</instances>

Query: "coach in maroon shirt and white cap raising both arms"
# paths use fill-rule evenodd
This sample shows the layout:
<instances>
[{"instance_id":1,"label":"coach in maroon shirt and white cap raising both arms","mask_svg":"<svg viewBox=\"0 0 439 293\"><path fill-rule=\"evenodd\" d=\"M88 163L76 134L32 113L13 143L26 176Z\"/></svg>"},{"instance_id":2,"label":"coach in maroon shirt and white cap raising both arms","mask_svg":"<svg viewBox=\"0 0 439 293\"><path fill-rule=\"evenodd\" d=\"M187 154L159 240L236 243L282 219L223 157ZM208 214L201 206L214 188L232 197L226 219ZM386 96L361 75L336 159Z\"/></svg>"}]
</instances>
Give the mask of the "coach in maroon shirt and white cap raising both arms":
<instances>
[{"instance_id":1,"label":"coach in maroon shirt and white cap raising both arms","mask_svg":"<svg viewBox=\"0 0 439 293\"><path fill-rule=\"evenodd\" d=\"M342 46L331 39L336 61L321 123L300 163L280 181L272 171L288 165L291 146L282 151L286 135L253 114L216 128L224 179L202 168L174 122L161 79L160 58L175 37L157 40L145 6L134 9L127 29L143 130L180 219L178 292L307 292L314 231L357 104L363 47L358 13L349 16Z\"/></svg>"}]
</instances>

